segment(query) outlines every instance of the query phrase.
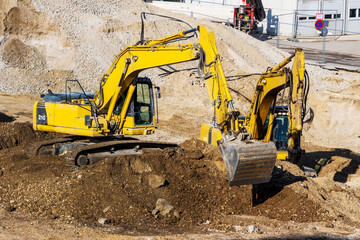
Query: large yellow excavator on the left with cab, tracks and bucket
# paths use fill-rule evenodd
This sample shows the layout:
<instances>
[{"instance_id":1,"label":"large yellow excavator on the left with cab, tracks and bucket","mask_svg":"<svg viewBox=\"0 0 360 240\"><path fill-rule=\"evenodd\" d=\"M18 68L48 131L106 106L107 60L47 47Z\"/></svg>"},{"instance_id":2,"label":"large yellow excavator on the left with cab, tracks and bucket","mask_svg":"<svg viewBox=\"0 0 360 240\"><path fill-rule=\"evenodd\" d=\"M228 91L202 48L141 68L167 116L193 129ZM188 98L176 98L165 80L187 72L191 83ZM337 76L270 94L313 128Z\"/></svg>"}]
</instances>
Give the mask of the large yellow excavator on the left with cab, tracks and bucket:
<instances>
[{"instance_id":1,"label":"large yellow excavator on the left with cab, tracks and bucket","mask_svg":"<svg viewBox=\"0 0 360 240\"><path fill-rule=\"evenodd\" d=\"M172 43L194 32L199 33L198 43ZM109 156L138 154L143 148L176 148L176 144L124 136L155 131L153 85L149 78L139 77L139 73L193 60L199 60L214 108L212 123L201 128L201 139L219 146L229 184L270 181L276 147L267 139L251 140L253 134L239 124L240 114L232 103L214 33L206 26L126 47L103 75L96 93L85 92L76 80L68 80L64 93L46 94L34 104L33 128L72 136L36 143L30 154L63 154L82 166ZM68 91L71 82L77 83L81 91Z\"/></svg>"}]
</instances>

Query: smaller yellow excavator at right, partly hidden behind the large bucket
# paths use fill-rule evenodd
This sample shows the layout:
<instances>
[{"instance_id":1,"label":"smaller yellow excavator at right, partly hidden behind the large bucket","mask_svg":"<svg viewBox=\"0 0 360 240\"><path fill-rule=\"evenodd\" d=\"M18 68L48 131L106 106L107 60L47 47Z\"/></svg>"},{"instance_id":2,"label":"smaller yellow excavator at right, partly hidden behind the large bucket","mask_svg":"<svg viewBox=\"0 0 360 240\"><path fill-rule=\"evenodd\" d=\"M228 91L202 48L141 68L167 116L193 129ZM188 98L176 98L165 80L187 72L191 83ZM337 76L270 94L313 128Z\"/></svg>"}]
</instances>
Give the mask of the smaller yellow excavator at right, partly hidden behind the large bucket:
<instances>
[{"instance_id":1,"label":"smaller yellow excavator at right, partly hidden behind the large bucket","mask_svg":"<svg viewBox=\"0 0 360 240\"><path fill-rule=\"evenodd\" d=\"M292 59L292 68L286 68ZM296 49L279 65L261 74L249 112L246 117L240 117L240 125L247 128L253 139L275 143L280 160L298 164L304 153L300 137L309 86L304 52Z\"/></svg>"}]
</instances>

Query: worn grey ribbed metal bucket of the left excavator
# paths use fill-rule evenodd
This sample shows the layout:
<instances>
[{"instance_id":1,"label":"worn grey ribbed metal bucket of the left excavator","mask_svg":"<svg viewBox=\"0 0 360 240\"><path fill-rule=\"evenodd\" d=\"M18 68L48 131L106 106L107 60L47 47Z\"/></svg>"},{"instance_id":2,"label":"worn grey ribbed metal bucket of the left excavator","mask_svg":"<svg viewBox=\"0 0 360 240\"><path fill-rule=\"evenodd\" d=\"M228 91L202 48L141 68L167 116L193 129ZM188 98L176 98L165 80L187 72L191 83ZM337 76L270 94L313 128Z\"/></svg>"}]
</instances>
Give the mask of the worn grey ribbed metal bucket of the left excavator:
<instances>
[{"instance_id":1,"label":"worn grey ribbed metal bucket of the left excavator","mask_svg":"<svg viewBox=\"0 0 360 240\"><path fill-rule=\"evenodd\" d=\"M219 144L225 161L229 185L266 183L276 161L276 147L273 142L231 141Z\"/></svg>"}]
</instances>

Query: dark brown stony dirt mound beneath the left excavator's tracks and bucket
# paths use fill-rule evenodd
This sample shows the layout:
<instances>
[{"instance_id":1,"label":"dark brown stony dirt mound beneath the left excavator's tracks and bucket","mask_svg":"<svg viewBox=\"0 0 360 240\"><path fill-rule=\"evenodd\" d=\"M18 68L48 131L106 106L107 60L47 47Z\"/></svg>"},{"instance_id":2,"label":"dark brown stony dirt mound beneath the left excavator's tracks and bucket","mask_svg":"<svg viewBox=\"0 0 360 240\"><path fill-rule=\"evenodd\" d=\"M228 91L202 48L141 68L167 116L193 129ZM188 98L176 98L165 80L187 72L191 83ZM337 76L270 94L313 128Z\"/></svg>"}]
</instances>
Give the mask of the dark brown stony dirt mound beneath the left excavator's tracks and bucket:
<instances>
[{"instance_id":1,"label":"dark brown stony dirt mound beneath the left excavator's tracks and bucket","mask_svg":"<svg viewBox=\"0 0 360 240\"><path fill-rule=\"evenodd\" d=\"M191 139L181 144L183 154L146 151L75 168L66 166L61 157L27 156L25 139L39 141L29 127L9 123L1 128L2 133L17 129L24 138L0 151L0 205L8 211L139 230L221 225L223 217L233 214L295 222L358 222L352 217L360 213L355 204L360 201L358 190L327 177L307 178L290 163L277 163L270 183L229 187L217 148ZM328 204L339 200L334 191L344 198L335 208ZM154 212L159 199L173 207L164 216ZM346 212L349 209L351 213Z\"/></svg>"}]
</instances>

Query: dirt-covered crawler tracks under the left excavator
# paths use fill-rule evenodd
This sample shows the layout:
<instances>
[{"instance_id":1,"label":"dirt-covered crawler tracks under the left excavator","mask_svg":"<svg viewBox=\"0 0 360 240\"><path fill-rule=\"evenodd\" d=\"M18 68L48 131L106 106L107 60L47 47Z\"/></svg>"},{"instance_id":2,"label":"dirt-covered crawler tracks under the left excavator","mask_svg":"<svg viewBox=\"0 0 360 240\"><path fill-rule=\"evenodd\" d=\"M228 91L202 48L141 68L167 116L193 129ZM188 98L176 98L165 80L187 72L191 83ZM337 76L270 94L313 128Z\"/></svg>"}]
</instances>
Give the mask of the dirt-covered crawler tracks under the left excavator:
<instances>
[{"instance_id":1,"label":"dirt-covered crawler tracks under the left excavator","mask_svg":"<svg viewBox=\"0 0 360 240\"><path fill-rule=\"evenodd\" d=\"M65 148L65 150L59 150L61 147ZM108 157L142 154L143 149L165 148L171 148L178 152L182 151L179 145L166 142L140 141L136 139L98 140L94 142L92 139L85 137L64 137L35 143L29 148L28 154L30 156L62 155L67 165L84 166Z\"/></svg>"}]
</instances>

